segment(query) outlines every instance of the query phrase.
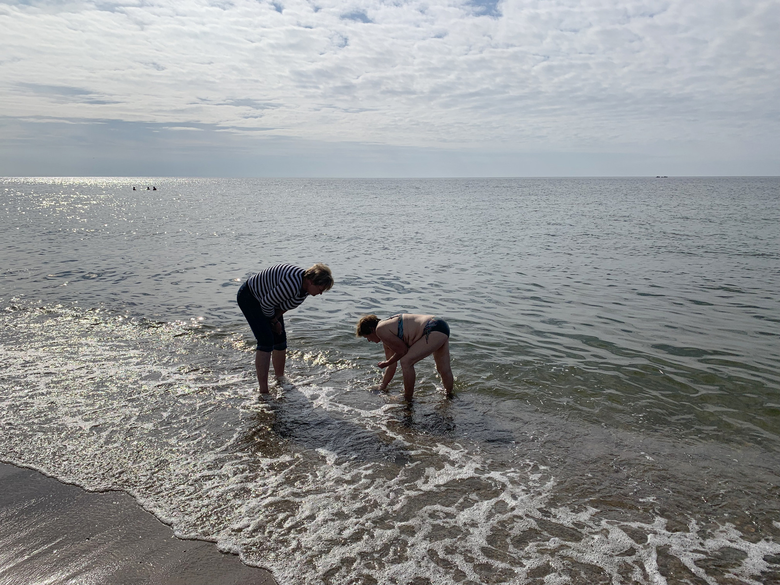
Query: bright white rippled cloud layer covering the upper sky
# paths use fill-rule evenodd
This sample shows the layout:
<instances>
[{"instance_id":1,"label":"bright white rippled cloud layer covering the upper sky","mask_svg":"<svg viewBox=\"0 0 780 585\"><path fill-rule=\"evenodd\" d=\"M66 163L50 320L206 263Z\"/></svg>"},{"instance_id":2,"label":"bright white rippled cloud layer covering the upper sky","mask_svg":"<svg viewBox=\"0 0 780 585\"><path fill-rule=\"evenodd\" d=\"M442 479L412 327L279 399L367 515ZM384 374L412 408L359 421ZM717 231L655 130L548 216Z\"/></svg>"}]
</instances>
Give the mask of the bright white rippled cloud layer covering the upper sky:
<instances>
[{"instance_id":1,"label":"bright white rippled cloud layer covering the upper sky","mask_svg":"<svg viewBox=\"0 0 780 585\"><path fill-rule=\"evenodd\" d=\"M778 22L762 0L7 2L0 100L307 144L776 158Z\"/></svg>"}]
</instances>

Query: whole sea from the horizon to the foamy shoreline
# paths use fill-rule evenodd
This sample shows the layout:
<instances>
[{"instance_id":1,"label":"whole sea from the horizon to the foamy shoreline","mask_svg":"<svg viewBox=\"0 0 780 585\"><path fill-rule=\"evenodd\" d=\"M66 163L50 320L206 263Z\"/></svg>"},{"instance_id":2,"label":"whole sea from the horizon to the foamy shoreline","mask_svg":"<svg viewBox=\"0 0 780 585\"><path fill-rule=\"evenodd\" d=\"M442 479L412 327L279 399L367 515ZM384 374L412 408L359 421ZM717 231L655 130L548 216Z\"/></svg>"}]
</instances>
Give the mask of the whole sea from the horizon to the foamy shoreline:
<instances>
[{"instance_id":1,"label":"whole sea from the horizon to the foamy shoreline","mask_svg":"<svg viewBox=\"0 0 780 585\"><path fill-rule=\"evenodd\" d=\"M135 190L133 190L135 187ZM148 187L154 187L149 189ZM0 179L0 460L281 585L780 583L780 178ZM257 394L239 285L324 262ZM413 402L364 314L435 314Z\"/></svg>"}]
</instances>

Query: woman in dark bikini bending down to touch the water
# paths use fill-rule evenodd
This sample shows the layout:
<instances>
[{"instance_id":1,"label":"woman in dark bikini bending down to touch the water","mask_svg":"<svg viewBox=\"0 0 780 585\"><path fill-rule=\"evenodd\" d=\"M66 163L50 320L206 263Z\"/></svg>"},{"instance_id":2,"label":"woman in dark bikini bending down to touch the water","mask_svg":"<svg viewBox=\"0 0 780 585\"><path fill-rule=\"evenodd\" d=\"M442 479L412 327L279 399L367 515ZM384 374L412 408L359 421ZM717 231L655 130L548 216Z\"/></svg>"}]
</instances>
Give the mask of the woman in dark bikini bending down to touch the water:
<instances>
[{"instance_id":1,"label":"woman in dark bikini bending down to touch the water","mask_svg":"<svg viewBox=\"0 0 780 585\"><path fill-rule=\"evenodd\" d=\"M434 354L436 369L448 394L452 392L454 379L449 364L449 325L433 315L402 313L383 321L376 315L366 315L357 322L356 335L385 346L385 361L377 365L387 368L380 390L384 390L395 376L395 366L401 363L403 397L411 400L417 374L414 364Z\"/></svg>"}]
</instances>

